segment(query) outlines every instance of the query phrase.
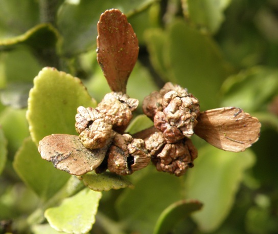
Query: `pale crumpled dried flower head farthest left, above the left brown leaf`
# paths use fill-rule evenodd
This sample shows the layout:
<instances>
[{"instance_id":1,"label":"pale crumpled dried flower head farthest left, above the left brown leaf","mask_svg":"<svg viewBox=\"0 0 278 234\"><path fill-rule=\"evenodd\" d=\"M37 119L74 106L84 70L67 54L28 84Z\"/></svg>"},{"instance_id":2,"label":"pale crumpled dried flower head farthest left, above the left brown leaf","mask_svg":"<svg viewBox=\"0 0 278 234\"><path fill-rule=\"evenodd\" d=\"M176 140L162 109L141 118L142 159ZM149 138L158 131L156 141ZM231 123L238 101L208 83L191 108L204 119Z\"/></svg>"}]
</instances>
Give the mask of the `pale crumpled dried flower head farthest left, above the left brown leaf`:
<instances>
[{"instance_id":1,"label":"pale crumpled dried flower head farthest left, above the left brown leaf","mask_svg":"<svg viewBox=\"0 0 278 234\"><path fill-rule=\"evenodd\" d=\"M77 112L75 128L82 144L90 150L104 147L112 134L109 117L91 107L79 107Z\"/></svg>"}]
</instances>

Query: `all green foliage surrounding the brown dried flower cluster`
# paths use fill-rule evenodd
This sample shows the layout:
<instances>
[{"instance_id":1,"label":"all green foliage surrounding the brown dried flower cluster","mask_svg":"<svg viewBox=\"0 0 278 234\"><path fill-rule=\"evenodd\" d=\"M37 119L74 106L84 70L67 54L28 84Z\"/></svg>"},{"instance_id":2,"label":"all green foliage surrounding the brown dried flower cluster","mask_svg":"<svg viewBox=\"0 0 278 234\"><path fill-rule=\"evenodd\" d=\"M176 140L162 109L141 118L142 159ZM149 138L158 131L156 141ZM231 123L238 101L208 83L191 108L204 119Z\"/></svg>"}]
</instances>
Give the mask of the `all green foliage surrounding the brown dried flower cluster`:
<instances>
[{"instance_id":1,"label":"all green foliage surrounding the brown dried flower cluster","mask_svg":"<svg viewBox=\"0 0 278 234\"><path fill-rule=\"evenodd\" d=\"M0 233L278 232L277 1L0 0L0 6ZM100 101L110 92L95 52L98 19L110 8L128 16L140 41L130 97L142 104L164 82L178 83L201 110L236 106L258 117L259 141L228 153L194 136L199 155L185 176L150 165L123 181L111 178L106 192L42 160L38 141L76 134L78 105L94 106L90 96ZM128 131L149 126L140 114L138 108ZM130 182L133 189L109 190Z\"/></svg>"}]
</instances>

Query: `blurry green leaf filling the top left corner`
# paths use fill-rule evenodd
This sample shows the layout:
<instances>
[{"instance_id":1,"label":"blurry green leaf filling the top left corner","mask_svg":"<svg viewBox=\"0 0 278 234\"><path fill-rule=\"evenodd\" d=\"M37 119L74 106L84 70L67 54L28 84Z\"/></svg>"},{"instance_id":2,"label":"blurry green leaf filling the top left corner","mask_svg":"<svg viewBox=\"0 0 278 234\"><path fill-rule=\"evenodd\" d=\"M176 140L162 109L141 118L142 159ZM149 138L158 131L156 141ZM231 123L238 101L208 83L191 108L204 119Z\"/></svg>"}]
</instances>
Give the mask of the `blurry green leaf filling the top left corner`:
<instances>
[{"instance_id":1,"label":"blurry green leaf filling the top left corner","mask_svg":"<svg viewBox=\"0 0 278 234\"><path fill-rule=\"evenodd\" d=\"M8 38L20 35L39 22L37 1L1 0L0 37Z\"/></svg>"}]
</instances>

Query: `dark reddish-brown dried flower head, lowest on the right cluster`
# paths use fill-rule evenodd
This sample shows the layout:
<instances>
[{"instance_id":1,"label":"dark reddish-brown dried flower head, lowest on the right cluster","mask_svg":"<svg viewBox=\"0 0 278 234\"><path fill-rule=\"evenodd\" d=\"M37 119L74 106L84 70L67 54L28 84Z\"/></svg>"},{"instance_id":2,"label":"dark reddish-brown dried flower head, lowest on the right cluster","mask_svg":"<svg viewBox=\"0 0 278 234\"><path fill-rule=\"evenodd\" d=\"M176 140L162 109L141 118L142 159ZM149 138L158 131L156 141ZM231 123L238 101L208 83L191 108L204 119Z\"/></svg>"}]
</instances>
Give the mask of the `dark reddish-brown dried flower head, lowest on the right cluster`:
<instances>
[{"instance_id":1,"label":"dark reddish-brown dried flower head, lowest on the right cluster","mask_svg":"<svg viewBox=\"0 0 278 234\"><path fill-rule=\"evenodd\" d=\"M183 138L177 143L167 143L163 150L152 157L157 171L182 176L188 168L194 166L193 161L197 158L197 149L189 138Z\"/></svg>"}]
</instances>

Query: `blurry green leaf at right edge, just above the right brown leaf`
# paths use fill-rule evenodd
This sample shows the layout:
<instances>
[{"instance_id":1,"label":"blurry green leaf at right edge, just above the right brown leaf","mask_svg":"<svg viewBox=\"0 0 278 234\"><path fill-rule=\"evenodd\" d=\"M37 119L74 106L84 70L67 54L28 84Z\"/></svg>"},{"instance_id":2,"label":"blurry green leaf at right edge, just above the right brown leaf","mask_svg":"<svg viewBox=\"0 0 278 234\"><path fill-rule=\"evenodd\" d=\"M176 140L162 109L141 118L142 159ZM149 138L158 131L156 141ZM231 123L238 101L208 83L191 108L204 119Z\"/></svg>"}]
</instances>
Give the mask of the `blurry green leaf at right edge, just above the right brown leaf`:
<instances>
[{"instance_id":1,"label":"blurry green leaf at right edge, just above the right brown leaf","mask_svg":"<svg viewBox=\"0 0 278 234\"><path fill-rule=\"evenodd\" d=\"M239 107L245 112L261 111L278 95L278 70L254 67L230 76L222 86L224 107Z\"/></svg>"}]
</instances>

